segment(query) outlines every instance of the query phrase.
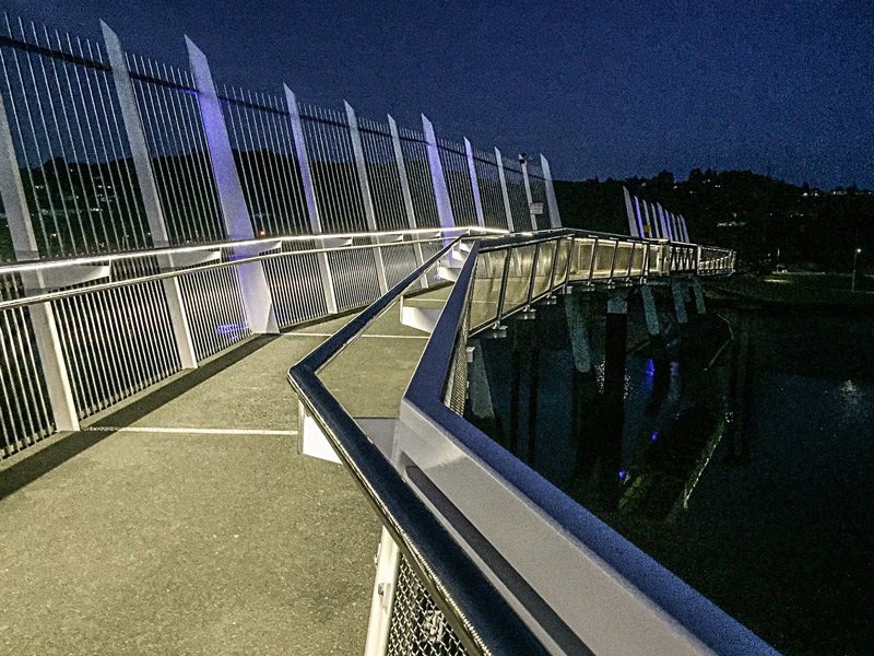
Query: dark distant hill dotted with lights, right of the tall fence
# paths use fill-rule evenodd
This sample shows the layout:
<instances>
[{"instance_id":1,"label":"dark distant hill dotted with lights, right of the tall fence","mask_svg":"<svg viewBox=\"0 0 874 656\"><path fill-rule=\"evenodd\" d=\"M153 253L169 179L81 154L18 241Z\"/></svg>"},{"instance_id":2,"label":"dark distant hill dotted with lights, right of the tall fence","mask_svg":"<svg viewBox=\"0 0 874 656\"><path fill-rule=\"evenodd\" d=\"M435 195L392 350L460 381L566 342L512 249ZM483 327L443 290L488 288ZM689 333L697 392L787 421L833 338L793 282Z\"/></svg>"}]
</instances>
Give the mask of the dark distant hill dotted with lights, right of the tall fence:
<instances>
[{"instance_id":1,"label":"dark distant hill dotted with lights, right of the tall fence","mask_svg":"<svg viewBox=\"0 0 874 656\"><path fill-rule=\"evenodd\" d=\"M727 246L742 259L771 254L781 262L848 271L874 265L874 195L851 186L831 191L790 185L749 171L689 172L653 178L556 181L563 223L628 234L622 188L686 218L696 242Z\"/></svg>"}]
</instances>

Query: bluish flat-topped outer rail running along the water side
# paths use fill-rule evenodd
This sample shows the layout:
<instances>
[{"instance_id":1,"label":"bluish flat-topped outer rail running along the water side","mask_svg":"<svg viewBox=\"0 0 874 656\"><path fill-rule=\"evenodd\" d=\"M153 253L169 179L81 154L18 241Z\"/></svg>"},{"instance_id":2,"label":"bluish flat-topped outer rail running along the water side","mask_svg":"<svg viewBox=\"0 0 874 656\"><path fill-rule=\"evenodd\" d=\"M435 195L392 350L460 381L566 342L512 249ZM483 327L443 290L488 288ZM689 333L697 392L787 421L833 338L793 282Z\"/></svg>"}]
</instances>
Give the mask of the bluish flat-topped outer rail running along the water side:
<instances>
[{"instance_id":1,"label":"bluish flat-topped outer rail running along the water side","mask_svg":"<svg viewBox=\"0 0 874 656\"><path fill-rule=\"evenodd\" d=\"M533 504L539 512L548 517L548 522L556 527L558 534L570 536L580 544L584 544L586 549L593 551L607 569L616 572L627 585L647 599L645 606L652 607L654 604L660 609L659 612L670 617L669 625L673 622L677 626L675 631L680 634L694 636L694 641L705 651L717 654L776 656L777 652L770 645L693 590L661 564L623 538L616 537L605 525L589 515L560 490L509 455L491 437L447 406L445 386L450 377L458 350L465 347L459 339L464 335L463 321L469 313L471 289L475 284L473 272L476 267L476 255L477 247L474 246L428 340L420 365L413 374L403 403L432 423L435 434L445 436L469 454L469 457L479 462L484 471L489 472L487 476L496 477L504 481L503 484L516 490L516 493L524 500L520 503ZM509 309L507 314L510 314ZM451 452L445 454L444 457L456 457L450 455ZM415 464L414 460L411 469L415 469ZM470 473L470 470L465 471ZM427 477L428 472L424 472L423 476ZM439 488L437 491L439 493ZM463 513L461 509L459 512ZM488 537L485 536L484 539L487 541ZM507 575L516 576L517 585L523 590L530 585L524 579L519 583L520 574L509 563L505 563L504 566L503 576ZM568 654L591 654L589 646L556 616L545 600L536 594L528 594L525 599L531 617L536 618L535 621L541 621L543 631L560 649Z\"/></svg>"}]
</instances>

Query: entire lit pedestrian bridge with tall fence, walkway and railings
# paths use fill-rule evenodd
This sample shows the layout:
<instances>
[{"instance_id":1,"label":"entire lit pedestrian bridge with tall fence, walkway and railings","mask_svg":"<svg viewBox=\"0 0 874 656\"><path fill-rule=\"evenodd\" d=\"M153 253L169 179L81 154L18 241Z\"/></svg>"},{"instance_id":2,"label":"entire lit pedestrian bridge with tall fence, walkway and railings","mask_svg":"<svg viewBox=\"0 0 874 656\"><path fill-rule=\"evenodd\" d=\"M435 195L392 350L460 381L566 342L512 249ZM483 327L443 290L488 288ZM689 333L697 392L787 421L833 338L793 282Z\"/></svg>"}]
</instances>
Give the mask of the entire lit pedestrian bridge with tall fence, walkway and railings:
<instances>
[{"instance_id":1,"label":"entire lit pedestrian bridge with tall fence, walkway and railings","mask_svg":"<svg viewBox=\"0 0 874 656\"><path fill-rule=\"evenodd\" d=\"M0 651L772 653L462 415L471 338L734 254L188 51L0 40Z\"/></svg>"}]
</instances>

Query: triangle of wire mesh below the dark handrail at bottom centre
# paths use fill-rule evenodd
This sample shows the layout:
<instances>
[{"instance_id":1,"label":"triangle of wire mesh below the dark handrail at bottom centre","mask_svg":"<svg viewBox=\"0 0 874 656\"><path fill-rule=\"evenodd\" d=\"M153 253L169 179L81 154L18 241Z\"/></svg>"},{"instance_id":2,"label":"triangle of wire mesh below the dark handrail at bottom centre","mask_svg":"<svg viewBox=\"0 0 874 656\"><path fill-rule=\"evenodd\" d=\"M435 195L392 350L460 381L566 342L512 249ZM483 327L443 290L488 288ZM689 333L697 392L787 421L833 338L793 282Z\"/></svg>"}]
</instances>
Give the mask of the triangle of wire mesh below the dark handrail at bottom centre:
<instances>
[{"instance_id":1,"label":"triangle of wire mesh below the dark handrail at bottom centre","mask_svg":"<svg viewBox=\"0 0 874 656\"><path fill-rule=\"evenodd\" d=\"M461 641L401 557L386 656L464 656Z\"/></svg>"}]
</instances>

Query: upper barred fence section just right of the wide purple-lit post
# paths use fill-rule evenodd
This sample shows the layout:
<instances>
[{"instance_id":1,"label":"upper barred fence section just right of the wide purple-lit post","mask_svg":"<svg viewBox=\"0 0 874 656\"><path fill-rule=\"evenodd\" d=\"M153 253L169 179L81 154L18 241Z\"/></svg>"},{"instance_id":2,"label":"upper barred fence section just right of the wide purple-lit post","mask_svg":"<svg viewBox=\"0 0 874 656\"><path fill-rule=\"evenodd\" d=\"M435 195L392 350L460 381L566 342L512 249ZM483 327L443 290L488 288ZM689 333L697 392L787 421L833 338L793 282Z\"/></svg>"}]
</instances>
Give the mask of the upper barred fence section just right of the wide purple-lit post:
<instances>
[{"instance_id":1,"label":"upper barred fence section just right of the wide purple-lit post","mask_svg":"<svg viewBox=\"0 0 874 656\"><path fill-rule=\"evenodd\" d=\"M220 99L255 234L308 233L300 167L284 102L227 87Z\"/></svg>"}]
</instances>

